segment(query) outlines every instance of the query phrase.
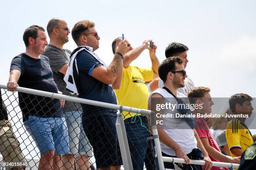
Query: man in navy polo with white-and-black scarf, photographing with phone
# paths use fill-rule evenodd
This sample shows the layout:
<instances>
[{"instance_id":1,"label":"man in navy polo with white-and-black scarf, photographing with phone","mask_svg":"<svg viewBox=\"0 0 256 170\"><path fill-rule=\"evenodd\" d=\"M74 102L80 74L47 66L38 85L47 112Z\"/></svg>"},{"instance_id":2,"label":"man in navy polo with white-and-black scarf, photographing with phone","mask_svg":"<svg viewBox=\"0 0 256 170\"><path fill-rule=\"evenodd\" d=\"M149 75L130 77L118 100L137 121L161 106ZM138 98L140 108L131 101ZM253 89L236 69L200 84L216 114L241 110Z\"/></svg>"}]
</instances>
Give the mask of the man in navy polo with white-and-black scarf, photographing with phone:
<instances>
[{"instance_id":1,"label":"man in navy polo with white-and-black scarf, photographing with phone","mask_svg":"<svg viewBox=\"0 0 256 170\"><path fill-rule=\"evenodd\" d=\"M74 80L77 80L75 90L79 93L78 97L117 104L113 88L120 87L122 59L127 51L126 40L118 39L113 61L107 66L93 53L99 48L100 40L93 22L82 20L76 23L72 29L72 37L78 46L72 52L72 59L73 54L79 52L75 56L76 62L73 62L78 71L77 74L73 71ZM66 73L66 76L71 75ZM82 104L82 109L82 125L93 147L97 169L120 169L122 163L115 129L117 110L86 104Z\"/></svg>"}]
</instances>

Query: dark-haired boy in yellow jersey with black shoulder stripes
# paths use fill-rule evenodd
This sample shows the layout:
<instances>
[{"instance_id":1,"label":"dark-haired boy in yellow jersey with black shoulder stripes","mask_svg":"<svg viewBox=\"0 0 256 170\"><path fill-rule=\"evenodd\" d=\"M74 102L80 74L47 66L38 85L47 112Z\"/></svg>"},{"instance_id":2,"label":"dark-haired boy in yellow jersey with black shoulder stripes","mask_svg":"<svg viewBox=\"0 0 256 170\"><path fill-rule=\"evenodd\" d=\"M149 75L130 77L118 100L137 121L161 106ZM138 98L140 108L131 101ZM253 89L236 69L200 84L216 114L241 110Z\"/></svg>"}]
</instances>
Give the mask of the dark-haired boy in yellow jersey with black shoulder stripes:
<instances>
[{"instance_id":1,"label":"dark-haired boy in yellow jersey with black shoulder stripes","mask_svg":"<svg viewBox=\"0 0 256 170\"><path fill-rule=\"evenodd\" d=\"M228 122L226 138L232 157L241 156L243 151L253 144L251 132L245 124L246 118L250 117L253 111L251 100L252 97L243 93L233 95L229 99L234 118Z\"/></svg>"}]
</instances>

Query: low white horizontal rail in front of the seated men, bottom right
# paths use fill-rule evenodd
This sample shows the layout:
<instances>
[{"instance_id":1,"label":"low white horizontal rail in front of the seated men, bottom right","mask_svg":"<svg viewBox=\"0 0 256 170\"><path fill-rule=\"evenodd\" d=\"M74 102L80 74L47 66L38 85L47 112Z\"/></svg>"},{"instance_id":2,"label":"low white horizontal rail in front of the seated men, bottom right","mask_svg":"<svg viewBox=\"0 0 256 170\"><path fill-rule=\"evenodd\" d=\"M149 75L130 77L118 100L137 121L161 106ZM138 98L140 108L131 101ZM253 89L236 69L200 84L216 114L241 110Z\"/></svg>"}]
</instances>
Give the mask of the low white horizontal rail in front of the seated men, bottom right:
<instances>
[{"instance_id":1,"label":"low white horizontal rail in front of the seated men, bottom right","mask_svg":"<svg viewBox=\"0 0 256 170\"><path fill-rule=\"evenodd\" d=\"M182 158L171 158L171 157L163 157L164 162L172 162L172 159L174 159L174 163L185 163L185 160ZM204 160L190 160L189 164L194 164L194 165L205 165ZM238 168L239 164L236 163L220 163L220 162L212 162L212 166L215 167L225 167L225 168L231 168L232 165L233 168Z\"/></svg>"}]
</instances>

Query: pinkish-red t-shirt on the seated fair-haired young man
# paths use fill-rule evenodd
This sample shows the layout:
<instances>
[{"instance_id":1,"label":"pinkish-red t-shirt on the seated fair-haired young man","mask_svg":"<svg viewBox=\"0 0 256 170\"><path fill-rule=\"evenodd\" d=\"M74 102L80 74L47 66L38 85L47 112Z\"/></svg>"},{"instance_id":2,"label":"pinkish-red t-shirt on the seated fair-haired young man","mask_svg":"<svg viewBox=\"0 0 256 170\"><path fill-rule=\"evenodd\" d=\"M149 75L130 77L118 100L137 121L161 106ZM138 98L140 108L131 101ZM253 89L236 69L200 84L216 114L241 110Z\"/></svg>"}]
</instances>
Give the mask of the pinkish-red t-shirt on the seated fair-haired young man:
<instances>
[{"instance_id":1,"label":"pinkish-red t-shirt on the seated fair-haired young man","mask_svg":"<svg viewBox=\"0 0 256 170\"><path fill-rule=\"evenodd\" d=\"M220 148L212 134L212 131L210 131L209 127L207 126L207 122L204 119L196 118L195 130L197 131L199 138L207 138L209 145L221 153ZM220 160L213 158L211 155L209 155L209 157L212 161L221 162ZM212 170L219 170L219 169L220 168L212 167ZM223 170L228 170L228 168L223 168Z\"/></svg>"}]
</instances>

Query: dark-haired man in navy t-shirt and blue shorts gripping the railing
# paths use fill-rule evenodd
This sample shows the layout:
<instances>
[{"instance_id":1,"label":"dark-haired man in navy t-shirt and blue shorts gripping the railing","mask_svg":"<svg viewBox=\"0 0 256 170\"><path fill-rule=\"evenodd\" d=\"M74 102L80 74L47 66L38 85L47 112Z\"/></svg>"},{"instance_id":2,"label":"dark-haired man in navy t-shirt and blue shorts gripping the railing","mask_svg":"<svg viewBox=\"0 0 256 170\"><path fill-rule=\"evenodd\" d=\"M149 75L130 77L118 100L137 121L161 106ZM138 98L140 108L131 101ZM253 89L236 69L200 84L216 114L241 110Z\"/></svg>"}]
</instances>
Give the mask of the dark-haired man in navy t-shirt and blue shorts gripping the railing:
<instances>
[{"instance_id":1,"label":"dark-haired man in navy t-shirt and blue shorts gripping the railing","mask_svg":"<svg viewBox=\"0 0 256 170\"><path fill-rule=\"evenodd\" d=\"M48 45L44 28L38 25L28 27L23 41L26 51L13 58L7 89L15 91L20 86L57 93L49 59L41 55ZM38 169L54 167L54 170L59 170L60 155L69 152L67 124L59 100L23 92L18 92L18 97L24 126L41 153ZM66 155L63 155L63 161L67 162Z\"/></svg>"}]
</instances>

